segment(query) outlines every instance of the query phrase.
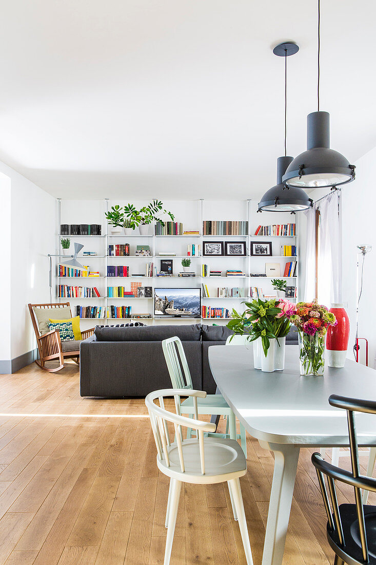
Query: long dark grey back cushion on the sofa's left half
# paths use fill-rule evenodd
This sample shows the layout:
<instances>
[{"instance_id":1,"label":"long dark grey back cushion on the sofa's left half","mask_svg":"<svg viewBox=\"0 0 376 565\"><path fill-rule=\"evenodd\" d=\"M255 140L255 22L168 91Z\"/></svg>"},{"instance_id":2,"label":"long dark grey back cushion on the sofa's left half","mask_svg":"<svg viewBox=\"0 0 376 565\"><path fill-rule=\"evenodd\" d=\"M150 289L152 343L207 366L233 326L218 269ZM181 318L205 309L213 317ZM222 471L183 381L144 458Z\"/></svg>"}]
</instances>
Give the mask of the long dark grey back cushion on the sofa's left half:
<instances>
[{"instance_id":1,"label":"long dark grey back cushion on the sofa's left half","mask_svg":"<svg viewBox=\"0 0 376 565\"><path fill-rule=\"evenodd\" d=\"M137 328L100 328L94 330L96 341L162 341L177 336L181 341L200 341L201 324L147 325Z\"/></svg>"}]
</instances>

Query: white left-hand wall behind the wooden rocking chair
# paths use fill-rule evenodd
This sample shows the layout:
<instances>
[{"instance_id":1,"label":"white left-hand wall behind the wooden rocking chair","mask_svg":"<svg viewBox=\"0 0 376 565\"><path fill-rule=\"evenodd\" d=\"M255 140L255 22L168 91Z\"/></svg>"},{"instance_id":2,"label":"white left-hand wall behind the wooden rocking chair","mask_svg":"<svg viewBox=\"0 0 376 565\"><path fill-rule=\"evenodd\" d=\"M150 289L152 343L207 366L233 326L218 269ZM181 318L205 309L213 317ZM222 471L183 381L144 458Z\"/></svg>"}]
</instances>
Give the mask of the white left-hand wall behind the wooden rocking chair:
<instances>
[{"instance_id":1,"label":"white left-hand wall behind the wooden rocking chair","mask_svg":"<svg viewBox=\"0 0 376 565\"><path fill-rule=\"evenodd\" d=\"M5 359L15 359L36 347L28 302L50 300L47 253L55 252L55 199L1 162L0 173L10 182L10 203L2 199L2 207L7 207L3 215L10 218L10 242L6 245L10 278L5 271L10 292L2 294L10 315L3 319L2 327L10 330L11 340L10 357Z\"/></svg>"}]
</instances>

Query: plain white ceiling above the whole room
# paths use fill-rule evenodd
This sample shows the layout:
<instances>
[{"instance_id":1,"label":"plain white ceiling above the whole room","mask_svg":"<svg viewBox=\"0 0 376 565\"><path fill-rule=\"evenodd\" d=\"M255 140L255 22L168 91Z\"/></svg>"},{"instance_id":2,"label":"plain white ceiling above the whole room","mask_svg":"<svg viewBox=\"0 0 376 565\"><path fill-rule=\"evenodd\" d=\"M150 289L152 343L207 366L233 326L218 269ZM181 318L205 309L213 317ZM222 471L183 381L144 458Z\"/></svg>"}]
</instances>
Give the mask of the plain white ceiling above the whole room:
<instances>
[{"instance_id":1,"label":"plain white ceiling above the whole room","mask_svg":"<svg viewBox=\"0 0 376 565\"><path fill-rule=\"evenodd\" d=\"M2 3L0 159L62 198L258 198L305 149L317 0ZM376 145L374 0L321 1L321 110L350 162Z\"/></svg>"}]
</instances>

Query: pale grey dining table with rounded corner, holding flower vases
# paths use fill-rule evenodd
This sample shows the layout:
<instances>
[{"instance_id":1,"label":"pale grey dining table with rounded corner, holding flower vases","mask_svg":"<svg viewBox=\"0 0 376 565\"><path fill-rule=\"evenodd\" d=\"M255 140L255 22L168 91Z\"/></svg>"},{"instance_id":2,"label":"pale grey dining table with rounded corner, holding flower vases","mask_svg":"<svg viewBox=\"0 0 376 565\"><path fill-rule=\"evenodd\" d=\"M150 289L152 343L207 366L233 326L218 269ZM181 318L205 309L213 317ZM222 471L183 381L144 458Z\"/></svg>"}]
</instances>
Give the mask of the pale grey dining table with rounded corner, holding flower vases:
<instances>
[{"instance_id":1,"label":"pale grey dining table with rounded corner, holding flower vases","mask_svg":"<svg viewBox=\"0 0 376 565\"><path fill-rule=\"evenodd\" d=\"M280 565L299 451L349 445L347 413L330 406L328 398L339 394L375 400L376 372L346 359L343 368L325 366L323 376L301 376L297 345L286 346L282 371L255 369L249 344L209 347L209 366L217 392L260 446L274 453L262 563ZM356 414L356 428L359 446L376 446L376 416ZM324 528L324 514L322 520Z\"/></svg>"}]
</instances>

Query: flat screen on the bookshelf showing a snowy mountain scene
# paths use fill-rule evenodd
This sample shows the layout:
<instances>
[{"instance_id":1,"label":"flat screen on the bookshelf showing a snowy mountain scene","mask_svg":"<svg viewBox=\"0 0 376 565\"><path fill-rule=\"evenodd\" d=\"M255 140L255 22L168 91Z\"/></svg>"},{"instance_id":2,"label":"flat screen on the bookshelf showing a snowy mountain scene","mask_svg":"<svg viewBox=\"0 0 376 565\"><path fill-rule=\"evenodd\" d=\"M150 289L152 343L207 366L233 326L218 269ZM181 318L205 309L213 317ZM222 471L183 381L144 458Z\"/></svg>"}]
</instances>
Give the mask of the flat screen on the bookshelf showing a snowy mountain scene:
<instances>
[{"instance_id":1,"label":"flat screen on the bookshelf showing a snowy mountain scene","mask_svg":"<svg viewBox=\"0 0 376 565\"><path fill-rule=\"evenodd\" d=\"M155 318L201 318L200 288L155 288Z\"/></svg>"}]
</instances>

